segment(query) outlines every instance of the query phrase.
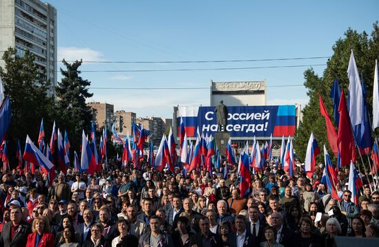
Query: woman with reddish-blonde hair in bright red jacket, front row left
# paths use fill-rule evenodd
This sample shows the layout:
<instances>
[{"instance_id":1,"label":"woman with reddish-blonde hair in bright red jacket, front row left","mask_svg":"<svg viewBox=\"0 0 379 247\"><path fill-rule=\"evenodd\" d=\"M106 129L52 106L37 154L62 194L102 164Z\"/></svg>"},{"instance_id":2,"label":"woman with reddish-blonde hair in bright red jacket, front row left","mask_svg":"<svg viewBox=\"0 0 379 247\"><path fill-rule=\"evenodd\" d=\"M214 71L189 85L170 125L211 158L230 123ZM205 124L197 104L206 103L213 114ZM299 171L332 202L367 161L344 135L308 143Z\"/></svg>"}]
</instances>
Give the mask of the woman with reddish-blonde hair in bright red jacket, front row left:
<instances>
[{"instance_id":1,"label":"woman with reddish-blonde hair in bright red jacket, front row left","mask_svg":"<svg viewBox=\"0 0 379 247\"><path fill-rule=\"evenodd\" d=\"M54 235L50 233L50 224L47 217L39 216L33 220L32 232L28 235L26 247L53 247ZM19 246L22 247L22 246Z\"/></svg>"}]
</instances>

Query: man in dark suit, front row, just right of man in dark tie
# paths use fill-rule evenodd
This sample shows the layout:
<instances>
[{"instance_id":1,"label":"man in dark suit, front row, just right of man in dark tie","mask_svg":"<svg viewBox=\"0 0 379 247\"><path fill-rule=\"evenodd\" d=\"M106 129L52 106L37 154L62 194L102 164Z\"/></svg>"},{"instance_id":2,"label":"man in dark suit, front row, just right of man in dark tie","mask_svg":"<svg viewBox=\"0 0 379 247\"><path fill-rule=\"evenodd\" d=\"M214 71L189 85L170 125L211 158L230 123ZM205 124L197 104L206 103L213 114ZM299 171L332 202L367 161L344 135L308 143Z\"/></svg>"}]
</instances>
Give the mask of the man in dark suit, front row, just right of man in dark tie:
<instances>
[{"instance_id":1,"label":"man in dark suit, front row, just right of man in dark tie","mask_svg":"<svg viewBox=\"0 0 379 247\"><path fill-rule=\"evenodd\" d=\"M271 215L271 226L274 226L278 230L276 235L276 241L279 244L283 244L285 247L296 246L296 234L294 230L283 225L283 217L279 212L274 212Z\"/></svg>"}]
</instances>

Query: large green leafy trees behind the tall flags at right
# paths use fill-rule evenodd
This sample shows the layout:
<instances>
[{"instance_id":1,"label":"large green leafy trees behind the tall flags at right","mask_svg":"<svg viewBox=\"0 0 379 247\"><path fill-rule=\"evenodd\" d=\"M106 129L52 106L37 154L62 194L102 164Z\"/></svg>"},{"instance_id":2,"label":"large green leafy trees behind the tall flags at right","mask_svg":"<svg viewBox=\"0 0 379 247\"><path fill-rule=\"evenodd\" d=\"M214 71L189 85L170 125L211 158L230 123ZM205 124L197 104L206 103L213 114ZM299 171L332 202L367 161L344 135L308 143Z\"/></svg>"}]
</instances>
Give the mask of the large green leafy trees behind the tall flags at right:
<instances>
[{"instance_id":1,"label":"large green leafy trees behind the tall flags at right","mask_svg":"<svg viewBox=\"0 0 379 247\"><path fill-rule=\"evenodd\" d=\"M333 119L333 103L329 98L331 86L334 78L338 78L340 87L345 92L349 91L349 78L347 77L347 67L351 50L354 50L354 56L358 71L365 78L365 86L367 88L367 106L369 108L370 118L372 118L372 89L373 89L373 70L375 67L375 59L379 55L379 26L378 22L373 24L371 38L366 32L361 34L349 28L345 32L344 39L338 39L333 46L334 54L327 62L327 68L322 76L314 73L313 69L307 69L305 75L305 87L307 87L309 103L303 109L303 122L295 133L294 149L301 160L305 160L307 143L311 131L314 132L318 145L322 150L322 144L329 149L327 141L327 133L325 129L325 119L320 114L320 106L318 104L318 93L321 94L325 106L329 111L329 116ZM335 125L336 126L336 125ZM333 155L331 155L333 157ZM318 156L318 160L323 160L322 155Z\"/></svg>"}]
</instances>

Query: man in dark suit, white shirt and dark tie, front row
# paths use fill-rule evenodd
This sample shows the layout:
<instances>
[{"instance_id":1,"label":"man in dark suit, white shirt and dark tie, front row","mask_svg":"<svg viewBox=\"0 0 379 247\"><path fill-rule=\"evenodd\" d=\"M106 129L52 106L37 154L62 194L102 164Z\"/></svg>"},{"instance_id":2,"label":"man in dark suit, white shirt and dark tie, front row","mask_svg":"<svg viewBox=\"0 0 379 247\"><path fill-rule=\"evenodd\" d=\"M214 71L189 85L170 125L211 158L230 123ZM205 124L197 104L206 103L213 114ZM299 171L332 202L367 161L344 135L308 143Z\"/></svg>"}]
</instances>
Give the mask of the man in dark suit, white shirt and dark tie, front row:
<instances>
[{"instance_id":1,"label":"man in dark suit, white shirt and dark tie, front row","mask_svg":"<svg viewBox=\"0 0 379 247\"><path fill-rule=\"evenodd\" d=\"M258 246L261 241L265 241L265 222L259 220L258 206L249 207L249 224L247 230L254 239L254 246Z\"/></svg>"}]
</instances>

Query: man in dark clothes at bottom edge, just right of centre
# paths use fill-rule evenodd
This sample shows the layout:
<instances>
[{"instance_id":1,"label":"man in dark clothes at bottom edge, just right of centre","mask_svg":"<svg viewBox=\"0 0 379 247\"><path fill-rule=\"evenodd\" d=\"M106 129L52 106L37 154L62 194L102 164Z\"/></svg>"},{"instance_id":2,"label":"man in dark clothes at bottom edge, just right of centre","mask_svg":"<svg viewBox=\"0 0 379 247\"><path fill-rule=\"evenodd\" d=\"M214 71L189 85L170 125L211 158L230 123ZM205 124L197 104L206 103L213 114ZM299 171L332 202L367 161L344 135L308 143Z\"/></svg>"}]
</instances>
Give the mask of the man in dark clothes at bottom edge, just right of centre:
<instances>
[{"instance_id":1,"label":"man in dark clothes at bottom edge, just right of centre","mask_svg":"<svg viewBox=\"0 0 379 247\"><path fill-rule=\"evenodd\" d=\"M209 219L201 216L198 220L198 227L200 231L191 237L190 246L196 245L197 247L217 247L221 246L222 240L218 235L211 232L209 229Z\"/></svg>"}]
</instances>

